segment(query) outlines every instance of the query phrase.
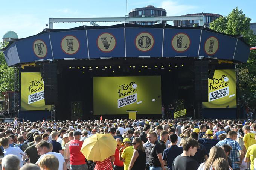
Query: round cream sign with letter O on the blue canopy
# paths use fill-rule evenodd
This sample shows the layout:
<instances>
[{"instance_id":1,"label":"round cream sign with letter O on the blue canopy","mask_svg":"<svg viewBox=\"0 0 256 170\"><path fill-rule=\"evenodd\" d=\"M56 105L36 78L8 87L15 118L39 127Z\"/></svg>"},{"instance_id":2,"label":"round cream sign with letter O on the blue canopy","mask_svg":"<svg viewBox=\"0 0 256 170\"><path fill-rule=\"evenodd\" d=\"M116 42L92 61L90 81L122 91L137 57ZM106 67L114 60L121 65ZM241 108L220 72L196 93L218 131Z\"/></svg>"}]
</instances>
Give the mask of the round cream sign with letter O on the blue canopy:
<instances>
[{"instance_id":1,"label":"round cream sign with letter O on the blue canopy","mask_svg":"<svg viewBox=\"0 0 256 170\"><path fill-rule=\"evenodd\" d=\"M143 52L151 50L154 46L154 38L150 33L139 33L135 38L135 45L138 50Z\"/></svg>"}]
</instances>

